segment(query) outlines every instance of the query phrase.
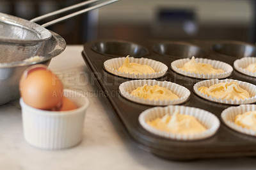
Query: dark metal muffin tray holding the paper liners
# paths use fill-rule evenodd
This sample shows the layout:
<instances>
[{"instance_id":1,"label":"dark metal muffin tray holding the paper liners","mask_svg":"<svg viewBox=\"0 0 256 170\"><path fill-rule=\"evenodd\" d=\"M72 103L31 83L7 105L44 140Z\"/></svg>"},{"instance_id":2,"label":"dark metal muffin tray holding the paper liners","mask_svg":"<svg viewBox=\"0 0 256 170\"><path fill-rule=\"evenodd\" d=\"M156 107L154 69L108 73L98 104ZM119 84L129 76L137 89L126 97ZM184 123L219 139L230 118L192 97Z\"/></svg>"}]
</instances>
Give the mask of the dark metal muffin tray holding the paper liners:
<instances>
[{"instance_id":1,"label":"dark metal muffin tray holding the paper liners","mask_svg":"<svg viewBox=\"0 0 256 170\"><path fill-rule=\"evenodd\" d=\"M208 139L199 141L175 141L147 132L141 127L138 117L141 112L153 106L137 104L122 97L118 87L122 82L131 81L106 72L104 61L111 58L125 57L150 58L168 66L168 72L157 81L170 81L180 84L191 91L187 102L180 104L198 107L215 114L221 121L218 132ZM202 79L186 77L173 72L172 61L180 58L208 58L223 61L233 66L236 59L256 56L256 47L249 43L234 41L189 41L172 42L153 40L148 42L124 42L122 40L97 40L84 44L82 52L84 61L90 68L95 81L104 91L108 103L122 121L127 132L141 148L159 157L172 160L189 160L195 158L256 156L256 137L236 132L221 120L221 112L230 107L226 104L209 102L198 97L193 91L196 82ZM255 77L237 72L235 69L228 79L256 84Z\"/></svg>"}]
</instances>

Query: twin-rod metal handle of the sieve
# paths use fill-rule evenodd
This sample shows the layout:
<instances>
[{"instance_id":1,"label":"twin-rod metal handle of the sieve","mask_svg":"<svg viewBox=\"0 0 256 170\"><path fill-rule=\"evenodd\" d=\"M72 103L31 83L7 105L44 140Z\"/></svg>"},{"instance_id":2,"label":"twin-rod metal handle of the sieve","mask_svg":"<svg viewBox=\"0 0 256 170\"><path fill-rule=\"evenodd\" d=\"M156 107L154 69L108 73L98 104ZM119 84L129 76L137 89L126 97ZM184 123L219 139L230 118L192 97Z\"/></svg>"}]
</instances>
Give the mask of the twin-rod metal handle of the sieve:
<instances>
[{"instance_id":1,"label":"twin-rod metal handle of the sieve","mask_svg":"<svg viewBox=\"0 0 256 170\"><path fill-rule=\"evenodd\" d=\"M57 15L57 14L60 14L60 13L63 13L63 12L74 10L74 9L79 8L81 6L84 6L86 4L92 4L92 3L95 3L95 2L99 2L99 1L100 0L90 0L90 1L85 1L83 3L74 4L74 5L69 6L67 8L63 8L63 9L57 10L55 12L47 13L47 14L42 15L40 17L36 17L35 19L31 19L30 21L31 22L38 22L39 20L43 20L43 19L46 19L48 17L52 17L54 15ZM96 5L93 5L93 6L89 7L89 8L85 8L84 10L71 13L71 14L66 15L64 17L60 17L59 19L55 19L55 20L52 20L50 22L46 22L45 24L42 24L42 27L52 26L53 24L57 24L58 22L61 22L63 20L70 19L71 17L75 17L76 15L80 15L81 13L85 13L85 12L89 12L91 10L95 10L96 8L100 8L101 6L106 6L108 4L115 3L116 1L119 1L119 0L104 1L104 3L99 3L99 4L96 4Z\"/></svg>"}]
</instances>

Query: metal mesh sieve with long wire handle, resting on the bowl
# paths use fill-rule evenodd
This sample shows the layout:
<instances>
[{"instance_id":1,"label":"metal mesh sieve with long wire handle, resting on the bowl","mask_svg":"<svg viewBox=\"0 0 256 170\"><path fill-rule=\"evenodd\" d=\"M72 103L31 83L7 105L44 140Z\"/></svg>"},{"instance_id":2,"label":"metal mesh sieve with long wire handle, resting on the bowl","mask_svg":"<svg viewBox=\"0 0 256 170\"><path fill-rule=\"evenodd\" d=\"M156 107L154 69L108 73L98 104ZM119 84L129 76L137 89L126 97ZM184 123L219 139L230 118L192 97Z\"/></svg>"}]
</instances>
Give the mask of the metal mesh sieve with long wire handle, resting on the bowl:
<instances>
[{"instance_id":1,"label":"metal mesh sieve with long wire handle, resting on the bowl","mask_svg":"<svg viewBox=\"0 0 256 170\"><path fill-rule=\"evenodd\" d=\"M115 3L118 0L111 1L99 1L99 0L90 0L85 1L83 3L75 4L73 6L69 6L67 8L63 8L61 10L47 13L42 15L41 17L36 17L32 20L20 19L19 17L14 17L12 15L7 15L5 13L0 13L0 43L19 43L22 45L29 45L33 43L40 43L45 40L49 40L51 38L51 32L45 27L51 26L63 20L69 19L81 13L88 12L90 10L94 10L96 8L100 8L101 6L105 6L111 3ZM65 17L61 17L59 19L52 20L51 22L47 22L42 26L36 24L35 22L39 20L46 19L48 17L52 17L54 15L68 12L70 10L74 10L81 6L92 4L92 6L85 8L81 11L71 13L66 15ZM0 49L1 50L1 49ZM0 63L2 63L0 61Z\"/></svg>"}]
</instances>

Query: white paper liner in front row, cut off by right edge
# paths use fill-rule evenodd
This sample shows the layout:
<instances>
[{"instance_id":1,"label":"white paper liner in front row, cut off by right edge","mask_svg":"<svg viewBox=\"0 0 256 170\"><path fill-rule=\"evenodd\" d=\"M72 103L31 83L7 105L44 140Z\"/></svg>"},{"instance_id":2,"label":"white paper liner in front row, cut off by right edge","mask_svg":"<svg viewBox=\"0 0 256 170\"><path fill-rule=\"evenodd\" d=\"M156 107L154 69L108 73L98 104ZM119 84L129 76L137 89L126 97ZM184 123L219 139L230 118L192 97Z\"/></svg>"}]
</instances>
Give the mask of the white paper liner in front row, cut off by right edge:
<instances>
[{"instance_id":1,"label":"white paper liner in front row, cut off by right edge","mask_svg":"<svg viewBox=\"0 0 256 170\"><path fill-rule=\"evenodd\" d=\"M241 132L243 134L256 136L255 130L243 128L234 123L235 118L238 114L243 114L244 112L248 111L256 111L256 105L239 105L237 107L228 107L223 112L221 112L221 118L224 123L233 130L236 130L237 132Z\"/></svg>"}]
</instances>

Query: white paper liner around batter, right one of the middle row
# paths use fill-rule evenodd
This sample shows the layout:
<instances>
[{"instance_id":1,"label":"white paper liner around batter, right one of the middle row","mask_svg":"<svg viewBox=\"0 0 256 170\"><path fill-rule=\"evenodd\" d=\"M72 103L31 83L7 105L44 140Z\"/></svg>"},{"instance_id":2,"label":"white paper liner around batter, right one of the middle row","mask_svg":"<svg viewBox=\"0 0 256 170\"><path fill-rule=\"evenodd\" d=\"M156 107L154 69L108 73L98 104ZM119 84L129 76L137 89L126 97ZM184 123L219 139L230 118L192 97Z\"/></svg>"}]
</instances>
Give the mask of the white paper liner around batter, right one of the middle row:
<instances>
[{"instance_id":1,"label":"white paper liner around batter, right one of the middle row","mask_svg":"<svg viewBox=\"0 0 256 170\"><path fill-rule=\"evenodd\" d=\"M208 88L209 86L218 84L220 82L237 82L241 88L246 89L248 91L248 93L250 94L250 98L246 98L244 100L227 100L227 99L223 100L221 98L207 96L198 90L198 88L200 88L201 86L205 86ZM221 104L240 105L240 104L252 104L256 102L256 86L248 82L237 81L232 79L225 79L225 80L211 79L211 80L197 82L194 85L193 89L195 93L200 97L205 98L206 100L210 100L212 102L218 102Z\"/></svg>"}]
</instances>

